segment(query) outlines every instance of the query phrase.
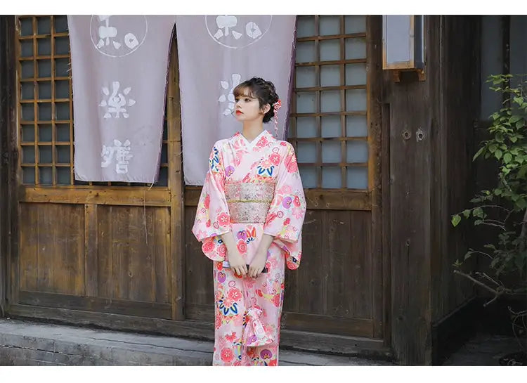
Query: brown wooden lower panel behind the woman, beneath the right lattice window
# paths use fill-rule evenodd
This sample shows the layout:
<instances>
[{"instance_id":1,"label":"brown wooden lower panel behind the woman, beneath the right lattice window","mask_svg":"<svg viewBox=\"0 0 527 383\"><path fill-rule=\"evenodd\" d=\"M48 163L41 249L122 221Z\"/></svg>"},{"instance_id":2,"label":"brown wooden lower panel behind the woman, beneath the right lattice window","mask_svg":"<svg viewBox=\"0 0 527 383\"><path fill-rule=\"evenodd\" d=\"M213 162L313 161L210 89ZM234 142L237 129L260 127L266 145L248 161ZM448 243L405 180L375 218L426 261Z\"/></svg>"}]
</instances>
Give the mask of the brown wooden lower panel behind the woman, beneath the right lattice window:
<instances>
[{"instance_id":1,"label":"brown wooden lower panel behind the woman, beneath the right lattice window","mask_svg":"<svg viewBox=\"0 0 527 383\"><path fill-rule=\"evenodd\" d=\"M187 207L185 216L186 317L212 321L212 262L190 232L195 207ZM302 267L286 272L284 328L375 337L370 217L370 212L307 212Z\"/></svg>"}]
</instances>

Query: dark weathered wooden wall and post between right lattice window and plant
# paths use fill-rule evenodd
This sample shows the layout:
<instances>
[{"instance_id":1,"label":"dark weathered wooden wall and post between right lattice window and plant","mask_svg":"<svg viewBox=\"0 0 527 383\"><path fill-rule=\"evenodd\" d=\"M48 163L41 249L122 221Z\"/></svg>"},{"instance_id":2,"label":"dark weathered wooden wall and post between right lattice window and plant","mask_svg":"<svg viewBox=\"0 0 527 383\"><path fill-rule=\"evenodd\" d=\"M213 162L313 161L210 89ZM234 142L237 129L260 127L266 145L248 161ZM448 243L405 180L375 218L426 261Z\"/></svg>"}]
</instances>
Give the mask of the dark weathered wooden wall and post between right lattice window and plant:
<instances>
[{"instance_id":1,"label":"dark weathered wooden wall and post between right lattice window and plant","mask_svg":"<svg viewBox=\"0 0 527 383\"><path fill-rule=\"evenodd\" d=\"M471 195L473 125L478 116L479 19L427 16L424 81L384 74L390 131L392 346L410 365L431 364L431 325L471 297L452 264L466 233L450 214ZM386 115L386 117L384 117Z\"/></svg>"}]
</instances>

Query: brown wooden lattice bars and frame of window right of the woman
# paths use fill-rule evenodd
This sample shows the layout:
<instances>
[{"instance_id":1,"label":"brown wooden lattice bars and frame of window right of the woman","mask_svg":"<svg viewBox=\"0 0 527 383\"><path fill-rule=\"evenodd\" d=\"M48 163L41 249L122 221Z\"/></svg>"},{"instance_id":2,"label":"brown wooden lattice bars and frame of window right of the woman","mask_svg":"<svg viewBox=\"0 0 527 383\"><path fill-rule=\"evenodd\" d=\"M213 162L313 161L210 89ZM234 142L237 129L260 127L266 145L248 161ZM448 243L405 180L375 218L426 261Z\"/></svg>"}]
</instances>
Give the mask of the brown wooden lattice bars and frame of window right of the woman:
<instances>
[{"instance_id":1,"label":"brown wooden lattice bars and frame of window right of the woman","mask_svg":"<svg viewBox=\"0 0 527 383\"><path fill-rule=\"evenodd\" d=\"M342 50L344 49L344 40L352 37L360 37L366 39L366 58L365 59L358 59L358 60L333 60L333 61L316 61L313 63L299 63L296 64L295 67L303 67L303 66L315 66L316 69L316 76L318 79L320 79L320 66L321 65L341 65L341 84L345 84L343 81L344 71L346 64L349 63L366 63L366 85L360 85L360 86L315 86L311 88L302 88L301 91L320 91L320 90L339 90L341 91L341 112L328 112L328 113L296 113L292 112L289 114L289 119L292 119L293 122L289 124L289 129L292 129L292 133L294 137L297 136L297 126L294 123L294 118L292 117L316 117L318 119L318 136L319 137L313 137L313 138L291 138L288 141L292 143L295 150L297 150L297 142L309 142L309 141L315 141L318 143L321 143L322 141L339 141L341 142L341 158L343 155L346 155L346 143L349 141L365 141L368 145L368 159L367 163L361 163L361 164L350 164L350 166L357 166L357 165L365 165L367 164L367 190L364 189L351 189L351 188L338 188L338 189L325 189L325 188L305 188L304 193L306 195L306 201L307 201L307 207L308 209L326 209L326 210L364 210L364 211L372 211L375 209L375 207L372 207L374 204L374 200L377 200L378 198L378 190L380 187L379 180L380 180L380 129L381 129L381 108L380 104L378 102L380 95L380 83L382 82L382 72L379 69L380 65L382 64L382 56L381 51L377 47L381 41L380 36L377 36L376 33L373 31L376 30L375 27L378 25L374 25L375 21L372 21L372 17L366 15L366 32L362 33L355 33L355 34L344 34L344 18L345 15L339 15L341 18L340 21L340 32L341 34L337 35L328 35L328 36L320 36L319 31L319 16L315 15L315 33L317 36L314 37L299 37L297 38L297 42L302 41L315 41L315 49L317 53L320 52L318 44L320 41L328 40L328 39L340 39L341 40L341 58L344 58L345 55ZM379 20L377 20L378 22ZM379 41L376 41L376 38L379 38ZM378 56L378 57L377 57ZM293 76L294 78L294 89L296 91L296 76ZM345 93L348 89L366 89L366 111L365 112L346 112L344 111L345 108ZM317 92L319 95L320 93ZM320 106L320 96L317 96L317 103L319 103ZM296 99L292 97L292 110L296 110ZM318 108L320 110L320 108ZM337 138L322 138L321 137L321 122L320 117L321 116L331 116L331 115L338 115L341 117L341 137ZM348 115L366 115L367 119L367 137L346 137L346 116ZM295 142L296 141L296 142ZM317 145L318 150L318 158L321 157L321 145ZM344 152L342 152L344 151ZM313 164L306 164L301 163L299 166L306 166L311 165L315 167L320 166L340 166L341 167L341 180L342 184L346 185L346 167L342 166L348 166L345 162L337 162L337 163L313 163ZM321 185L321 169L318 171L318 185ZM200 197L202 187L201 186L185 186L185 205L195 207L197 206L197 202Z\"/></svg>"}]
</instances>

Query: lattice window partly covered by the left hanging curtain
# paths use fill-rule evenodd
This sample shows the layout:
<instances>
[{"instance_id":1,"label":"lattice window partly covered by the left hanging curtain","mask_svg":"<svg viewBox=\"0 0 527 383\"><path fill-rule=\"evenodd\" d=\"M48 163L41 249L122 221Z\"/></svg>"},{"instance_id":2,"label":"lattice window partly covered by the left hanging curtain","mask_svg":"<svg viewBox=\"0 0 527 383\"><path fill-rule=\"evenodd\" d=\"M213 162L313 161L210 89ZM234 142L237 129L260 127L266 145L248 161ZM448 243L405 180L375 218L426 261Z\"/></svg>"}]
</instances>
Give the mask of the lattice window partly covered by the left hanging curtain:
<instances>
[{"instance_id":1,"label":"lattice window partly covered by the left hanging curtain","mask_svg":"<svg viewBox=\"0 0 527 383\"><path fill-rule=\"evenodd\" d=\"M70 39L65 15L18 17L18 126L22 183L41 186L146 186L82 182L73 173ZM167 120L160 175L168 184Z\"/></svg>"}]
</instances>

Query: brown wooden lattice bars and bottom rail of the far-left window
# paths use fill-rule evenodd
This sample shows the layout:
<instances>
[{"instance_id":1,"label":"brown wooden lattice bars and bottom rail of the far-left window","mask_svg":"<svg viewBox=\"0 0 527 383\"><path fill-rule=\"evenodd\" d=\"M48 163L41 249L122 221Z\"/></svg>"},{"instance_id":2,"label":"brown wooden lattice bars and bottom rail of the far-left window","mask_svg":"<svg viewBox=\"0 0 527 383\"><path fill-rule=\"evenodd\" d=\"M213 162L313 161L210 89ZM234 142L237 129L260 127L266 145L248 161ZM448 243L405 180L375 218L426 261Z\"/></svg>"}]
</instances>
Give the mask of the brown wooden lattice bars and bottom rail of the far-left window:
<instances>
[{"instance_id":1,"label":"brown wooden lattice bars and bottom rail of the far-left window","mask_svg":"<svg viewBox=\"0 0 527 383\"><path fill-rule=\"evenodd\" d=\"M20 181L20 201L21 202L63 202L68 203L69 201L80 201L80 200L91 200L91 201L100 201L97 203L106 203L104 202L105 199L103 196L113 196L108 197L108 203L118 203L117 201L122 201L123 203L118 203L118 205L130 205L127 202L139 202L143 204L157 204L153 206L165 206L164 204L167 203L167 199L169 200L169 189L171 188L171 184L175 181L174 179L171 180L171 178L177 178L176 175L171 174L171 155L169 152L172 152L170 140L169 140L169 124L168 124L168 111L165 115L165 121L164 121L164 129L167 129L167 131L164 131L164 135L162 138L162 148L167 149L167 162L164 162L160 164L160 169L167 168L167 185L160 185L160 184L147 184L147 183L126 183L126 182L83 182L83 181L76 181L74 179L74 116L73 116L73 92L72 92L72 77L71 73L67 77L58 77L56 76L56 67L55 67L55 60L56 59L64 59L67 58L68 60L71 60L70 53L67 54L55 54L55 39L57 37L69 37L69 32L56 32L55 30L55 18L57 15L17 15L15 16L15 63L16 63L16 116L17 116L17 144L18 144L18 150L20 152L20 155L18 156L18 168L17 168L17 177ZM61 15L60 17L65 17ZM49 18L50 20L50 33L49 34L39 34L38 32L38 18ZM21 22L22 19L31 19L32 20L32 31L33 34L22 36L21 34ZM44 40L48 39L50 41L51 46L51 54L46 56L39 56L38 54L38 41L39 39ZM21 51L21 43L22 41L32 41L32 56L28 57L22 57L22 51ZM49 60L51 63L51 77L39 77L38 74L38 60ZM33 63L33 76L30 78L22 79L22 63L23 62L32 62ZM71 63L71 61L70 61ZM71 64L70 64L71 65ZM175 63L171 63L171 65L175 65ZM56 81L69 81L70 89L69 89L69 95L68 98L56 98ZM44 99L40 98L38 93L38 86L41 82L50 82L51 84L51 98ZM23 100L22 99L22 84L25 83L32 83L33 84L33 98ZM167 94L167 97L169 95ZM70 119L65 120L58 120L56 119L56 108L55 104L60 102L68 102L69 108L70 108ZM34 119L32 121L30 120L23 120L22 119L22 105L27 104L33 104L34 105ZM51 120L39 120L38 115L38 105L39 103L50 103L51 104ZM51 141L40 141L39 138L39 125L49 124L51 126ZM66 141L56 141L56 131L57 131L57 125L58 124L69 124L70 126L70 141L69 143L66 143ZM34 141L22 141L22 127L23 126L34 126ZM165 136L166 134L166 136ZM40 146L46 146L49 145L52 148L52 162L51 163L41 163L39 162L39 145ZM22 148L25 147L33 147L34 148L34 163L24 163L22 162L23 156L22 156ZM70 162L69 164L64 163L58 163L56 158L56 147L60 146L69 146L70 147ZM40 167L49 167L51 168L51 184L41 184L40 183ZM64 168L69 167L70 169L70 184L58 184L58 178L56 176L56 172L58 168ZM33 168L34 169L34 183L24 183L23 182L23 169L27 168ZM162 171L162 170L160 170ZM153 188L152 188L153 186ZM75 190L79 190L77 193ZM89 192L86 190L90 190ZM110 192L110 190L112 190ZM144 196L142 198L139 198L136 196L134 197L140 190L148 190L147 197L143 193ZM163 190L163 191L161 191ZM93 199L93 196L96 195L96 199ZM120 196L120 197L117 197ZM168 196L168 198L167 198ZM89 203L89 202L88 202ZM134 203L132 203L134 205Z\"/></svg>"}]
</instances>

